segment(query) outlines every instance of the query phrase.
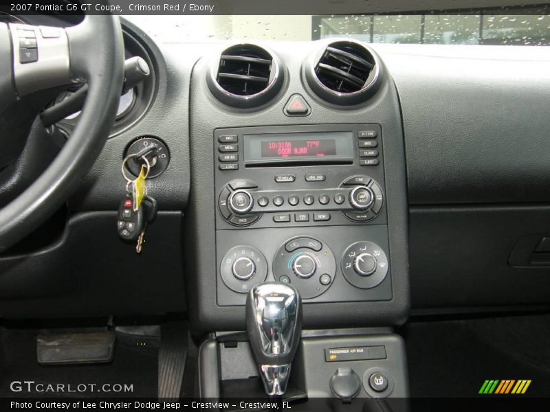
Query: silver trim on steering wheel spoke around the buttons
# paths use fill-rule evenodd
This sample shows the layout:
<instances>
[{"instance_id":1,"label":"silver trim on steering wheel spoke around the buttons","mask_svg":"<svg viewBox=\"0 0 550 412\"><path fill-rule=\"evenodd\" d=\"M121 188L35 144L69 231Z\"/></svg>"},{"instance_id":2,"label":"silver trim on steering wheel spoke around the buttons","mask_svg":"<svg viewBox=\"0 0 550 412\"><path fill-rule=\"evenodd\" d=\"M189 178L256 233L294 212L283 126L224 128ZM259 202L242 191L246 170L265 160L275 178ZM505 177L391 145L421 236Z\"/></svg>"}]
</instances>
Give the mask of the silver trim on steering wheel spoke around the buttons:
<instances>
[{"instance_id":1,"label":"silver trim on steering wheel spoke around the buttons","mask_svg":"<svg viewBox=\"0 0 550 412\"><path fill-rule=\"evenodd\" d=\"M36 36L38 61L19 62L18 30L32 30ZM42 30L56 30L58 37L43 37ZM13 49L13 73L20 96L34 91L72 83L69 41L67 33L59 27L44 27L10 23Z\"/></svg>"}]
</instances>

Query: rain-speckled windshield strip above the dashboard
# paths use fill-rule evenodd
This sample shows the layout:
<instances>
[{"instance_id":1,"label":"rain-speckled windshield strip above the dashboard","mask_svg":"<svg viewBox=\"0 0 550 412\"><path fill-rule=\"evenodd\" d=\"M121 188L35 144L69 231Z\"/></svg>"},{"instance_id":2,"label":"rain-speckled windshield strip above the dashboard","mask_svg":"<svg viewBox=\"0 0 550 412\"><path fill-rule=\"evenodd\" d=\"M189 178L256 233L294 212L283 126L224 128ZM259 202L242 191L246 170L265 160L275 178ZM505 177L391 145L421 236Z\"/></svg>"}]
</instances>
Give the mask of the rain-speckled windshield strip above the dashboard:
<instances>
[{"instance_id":1,"label":"rain-speckled windshield strip above the dashboard","mask_svg":"<svg viewBox=\"0 0 550 412\"><path fill-rule=\"evenodd\" d=\"M162 43L347 36L369 43L550 45L549 14L536 14L536 10L507 13L125 17Z\"/></svg>"}]
</instances>

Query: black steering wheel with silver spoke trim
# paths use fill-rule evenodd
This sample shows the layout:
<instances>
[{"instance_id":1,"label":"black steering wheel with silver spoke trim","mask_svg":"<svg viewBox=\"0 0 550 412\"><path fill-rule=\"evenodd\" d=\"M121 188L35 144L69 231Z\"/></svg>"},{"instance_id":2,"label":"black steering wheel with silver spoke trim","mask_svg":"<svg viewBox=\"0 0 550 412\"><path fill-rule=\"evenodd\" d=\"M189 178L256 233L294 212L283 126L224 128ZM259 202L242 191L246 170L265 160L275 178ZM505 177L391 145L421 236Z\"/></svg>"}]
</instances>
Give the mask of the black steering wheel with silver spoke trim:
<instances>
[{"instance_id":1,"label":"black steering wheel with silver spoke trim","mask_svg":"<svg viewBox=\"0 0 550 412\"><path fill-rule=\"evenodd\" d=\"M99 156L113 126L124 76L124 42L118 16L87 15L66 29L0 23L0 152L30 130L21 106L50 91L87 82L87 98L74 129L54 161L0 209L0 252L45 222L69 198ZM56 89L57 88L57 89ZM36 104L35 104L36 105ZM25 132L26 134L26 132ZM0 165L1 167L2 165ZM4 165L5 166L5 165ZM19 173L25 172L23 165Z\"/></svg>"}]
</instances>

